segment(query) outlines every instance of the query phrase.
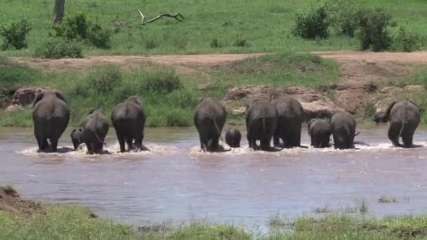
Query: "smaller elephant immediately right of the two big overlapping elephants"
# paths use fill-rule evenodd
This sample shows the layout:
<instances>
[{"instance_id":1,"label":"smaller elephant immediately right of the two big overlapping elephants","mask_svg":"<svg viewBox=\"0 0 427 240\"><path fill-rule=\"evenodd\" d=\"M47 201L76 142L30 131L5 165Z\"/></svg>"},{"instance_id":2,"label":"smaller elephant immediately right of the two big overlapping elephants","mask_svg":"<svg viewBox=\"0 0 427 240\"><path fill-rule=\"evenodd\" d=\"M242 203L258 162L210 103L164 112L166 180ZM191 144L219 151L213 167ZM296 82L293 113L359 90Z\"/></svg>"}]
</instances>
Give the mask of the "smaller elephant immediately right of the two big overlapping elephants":
<instances>
[{"instance_id":1,"label":"smaller elephant immediately right of the two big overlapping elephants","mask_svg":"<svg viewBox=\"0 0 427 240\"><path fill-rule=\"evenodd\" d=\"M322 119L311 119L308 121L308 135L310 145L315 148L330 147L331 125Z\"/></svg>"}]
</instances>

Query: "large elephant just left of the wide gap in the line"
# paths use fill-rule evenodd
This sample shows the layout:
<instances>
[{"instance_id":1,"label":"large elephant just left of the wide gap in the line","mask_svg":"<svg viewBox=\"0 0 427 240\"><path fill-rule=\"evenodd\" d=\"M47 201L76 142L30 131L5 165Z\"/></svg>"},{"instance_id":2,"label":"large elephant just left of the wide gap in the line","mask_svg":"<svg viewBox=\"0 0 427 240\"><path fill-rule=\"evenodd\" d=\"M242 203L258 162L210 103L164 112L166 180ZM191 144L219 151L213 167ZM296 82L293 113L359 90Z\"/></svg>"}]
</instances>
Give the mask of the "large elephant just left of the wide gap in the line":
<instances>
[{"instance_id":1,"label":"large elephant just left of the wide gap in the line","mask_svg":"<svg viewBox=\"0 0 427 240\"><path fill-rule=\"evenodd\" d=\"M125 102L114 107L111 121L116 130L117 140L119 140L120 152L125 151L125 142L129 151L131 149L135 152L148 150L143 145L145 119L143 104L136 96L131 96ZM135 140L134 143L133 140Z\"/></svg>"}]
</instances>

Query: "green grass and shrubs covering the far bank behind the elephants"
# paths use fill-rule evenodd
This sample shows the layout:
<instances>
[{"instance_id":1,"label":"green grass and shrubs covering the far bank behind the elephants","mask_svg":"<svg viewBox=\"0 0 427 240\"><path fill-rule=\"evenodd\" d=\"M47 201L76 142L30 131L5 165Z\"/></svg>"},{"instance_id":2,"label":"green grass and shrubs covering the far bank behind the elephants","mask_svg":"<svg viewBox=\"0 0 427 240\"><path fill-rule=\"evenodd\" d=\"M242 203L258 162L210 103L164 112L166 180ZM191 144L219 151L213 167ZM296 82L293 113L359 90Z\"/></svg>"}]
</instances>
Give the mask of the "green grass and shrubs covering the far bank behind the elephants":
<instances>
[{"instance_id":1,"label":"green grass and shrubs covering the far bank behind the elephants","mask_svg":"<svg viewBox=\"0 0 427 240\"><path fill-rule=\"evenodd\" d=\"M179 74L159 65L122 69L102 66L88 72L40 72L4 58L0 87L43 86L65 93L71 109L71 125L77 126L93 108L110 117L112 108L131 95L143 99L147 126L190 126L199 98L220 99L227 88L247 84L317 86L338 79L336 62L310 54L282 53L249 58L213 69L210 79ZM304 71L301 71L301 67ZM204 84L200 91L198 86ZM207 84L207 85L206 85ZM31 106L0 112L0 126L32 126Z\"/></svg>"}]
</instances>

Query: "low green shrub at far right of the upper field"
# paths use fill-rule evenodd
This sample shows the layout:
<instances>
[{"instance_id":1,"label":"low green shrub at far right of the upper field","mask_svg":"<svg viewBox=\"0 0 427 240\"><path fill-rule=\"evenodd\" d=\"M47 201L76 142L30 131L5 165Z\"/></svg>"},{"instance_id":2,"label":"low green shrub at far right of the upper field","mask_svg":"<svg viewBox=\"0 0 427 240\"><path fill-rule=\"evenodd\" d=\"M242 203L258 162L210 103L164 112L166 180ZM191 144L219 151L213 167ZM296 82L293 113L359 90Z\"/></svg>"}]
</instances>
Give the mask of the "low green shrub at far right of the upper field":
<instances>
[{"instance_id":1,"label":"low green shrub at far right of the upper field","mask_svg":"<svg viewBox=\"0 0 427 240\"><path fill-rule=\"evenodd\" d=\"M413 52L421 49L421 36L408 32L405 27L400 27L398 35L393 39L393 50Z\"/></svg>"}]
</instances>

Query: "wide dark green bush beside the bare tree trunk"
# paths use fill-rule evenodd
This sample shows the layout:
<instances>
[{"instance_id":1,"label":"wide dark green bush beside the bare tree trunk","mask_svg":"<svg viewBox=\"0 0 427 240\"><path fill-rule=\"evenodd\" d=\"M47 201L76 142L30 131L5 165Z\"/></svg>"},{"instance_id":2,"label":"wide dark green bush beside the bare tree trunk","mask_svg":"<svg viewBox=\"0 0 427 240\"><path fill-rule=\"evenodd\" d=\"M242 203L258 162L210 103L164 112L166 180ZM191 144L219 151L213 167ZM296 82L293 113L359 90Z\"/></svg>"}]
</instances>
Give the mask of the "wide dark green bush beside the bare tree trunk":
<instances>
[{"instance_id":1,"label":"wide dark green bush beside the bare tree trunk","mask_svg":"<svg viewBox=\"0 0 427 240\"><path fill-rule=\"evenodd\" d=\"M86 18L85 13L69 15L53 25L55 36L68 41L86 41L97 48L110 48L111 32Z\"/></svg>"}]
</instances>

